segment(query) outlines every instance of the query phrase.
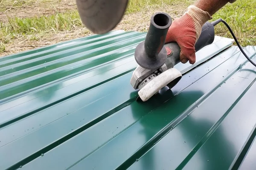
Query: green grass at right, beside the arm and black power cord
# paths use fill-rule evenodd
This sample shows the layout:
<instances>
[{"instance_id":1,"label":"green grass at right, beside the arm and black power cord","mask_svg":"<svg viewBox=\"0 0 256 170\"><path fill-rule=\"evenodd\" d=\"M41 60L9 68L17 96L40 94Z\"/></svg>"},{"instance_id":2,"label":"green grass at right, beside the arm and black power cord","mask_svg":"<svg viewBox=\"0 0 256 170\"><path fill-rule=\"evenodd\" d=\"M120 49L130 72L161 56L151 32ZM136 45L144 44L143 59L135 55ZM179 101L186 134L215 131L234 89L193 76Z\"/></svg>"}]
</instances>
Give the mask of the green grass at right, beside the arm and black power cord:
<instances>
[{"instance_id":1,"label":"green grass at right, beside the arm and black power cord","mask_svg":"<svg viewBox=\"0 0 256 170\"><path fill-rule=\"evenodd\" d=\"M256 45L256 3L255 0L237 0L221 8L213 20L222 18L233 30L242 46ZM216 34L232 38L227 27L220 23L215 28Z\"/></svg>"}]
</instances>

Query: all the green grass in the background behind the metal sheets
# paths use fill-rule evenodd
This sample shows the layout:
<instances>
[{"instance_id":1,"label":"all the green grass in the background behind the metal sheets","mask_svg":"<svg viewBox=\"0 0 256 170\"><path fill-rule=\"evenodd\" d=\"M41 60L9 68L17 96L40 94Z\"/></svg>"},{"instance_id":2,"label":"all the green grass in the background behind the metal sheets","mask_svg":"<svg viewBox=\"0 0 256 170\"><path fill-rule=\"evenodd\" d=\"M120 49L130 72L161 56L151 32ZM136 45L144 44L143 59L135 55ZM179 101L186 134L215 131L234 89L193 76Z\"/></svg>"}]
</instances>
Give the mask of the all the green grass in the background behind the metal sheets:
<instances>
[{"instance_id":1,"label":"all the green grass in the background behind the metal sheets","mask_svg":"<svg viewBox=\"0 0 256 170\"><path fill-rule=\"evenodd\" d=\"M45 3L51 0L2 0L0 6L29 6L34 3ZM192 4L194 0L130 0L126 14L137 11L171 5L175 9L175 3L184 3L184 6ZM255 0L237 0L236 3L229 4L219 10L213 20L221 17L233 29L242 46L256 45L256 3ZM54 1L56 4L56 1ZM58 0L61 2L61 0ZM61 6L61 4L59 5ZM184 7L185 8L185 7ZM0 8L3 10L3 8ZM5 9L6 10L6 9ZM25 9L26 10L26 9ZM136 24L136 21L134 21ZM50 16L32 17L32 18L9 18L9 22L0 22L0 52L5 51L7 45L13 39L19 37L35 37L36 34L48 34L51 32L68 31L81 28L83 24L78 12L74 9L56 13ZM231 37L228 29L220 23L215 28L216 34L224 37Z\"/></svg>"}]
</instances>

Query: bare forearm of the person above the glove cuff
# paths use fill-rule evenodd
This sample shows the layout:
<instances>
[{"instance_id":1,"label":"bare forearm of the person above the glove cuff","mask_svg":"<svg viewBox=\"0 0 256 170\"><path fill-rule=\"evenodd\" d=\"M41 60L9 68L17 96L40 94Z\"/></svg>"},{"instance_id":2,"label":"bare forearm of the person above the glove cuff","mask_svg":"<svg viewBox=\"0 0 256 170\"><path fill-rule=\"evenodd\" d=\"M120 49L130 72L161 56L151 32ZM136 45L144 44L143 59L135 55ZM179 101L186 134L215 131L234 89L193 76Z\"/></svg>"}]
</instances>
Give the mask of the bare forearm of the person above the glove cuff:
<instances>
[{"instance_id":1,"label":"bare forearm of the person above the glove cuff","mask_svg":"<svg viewBox=\"0 0 256 170\"><path fill-rule=\"evenodd\" d=\"M197 0L195 6L207 11L211 16L227 3L233 3L236 0Z\"/></svg>"}]
</instances>

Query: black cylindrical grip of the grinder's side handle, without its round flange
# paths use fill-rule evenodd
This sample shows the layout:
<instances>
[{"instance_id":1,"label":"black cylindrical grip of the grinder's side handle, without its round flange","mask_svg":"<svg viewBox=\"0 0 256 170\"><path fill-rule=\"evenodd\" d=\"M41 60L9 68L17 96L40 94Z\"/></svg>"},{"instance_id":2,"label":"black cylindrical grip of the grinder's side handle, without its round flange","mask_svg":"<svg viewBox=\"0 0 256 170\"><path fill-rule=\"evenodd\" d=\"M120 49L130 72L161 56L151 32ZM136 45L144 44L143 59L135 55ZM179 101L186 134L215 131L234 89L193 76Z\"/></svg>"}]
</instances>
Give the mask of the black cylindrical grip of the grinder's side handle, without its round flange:
<instances>
[{"instance_id":1,"label":"black cylindrical grip of the grinder's side handle, without its round flange","mask_svg":"<svg viewBox=\"0 0 256 170\"><path fill-rule=\"evenodd\" d=\"M145 53L151 59L157 59L165 44L166 35L172 24L172 18L163 12L152 15L150 26L145 38Z\"/></svg>"}]
</instances>

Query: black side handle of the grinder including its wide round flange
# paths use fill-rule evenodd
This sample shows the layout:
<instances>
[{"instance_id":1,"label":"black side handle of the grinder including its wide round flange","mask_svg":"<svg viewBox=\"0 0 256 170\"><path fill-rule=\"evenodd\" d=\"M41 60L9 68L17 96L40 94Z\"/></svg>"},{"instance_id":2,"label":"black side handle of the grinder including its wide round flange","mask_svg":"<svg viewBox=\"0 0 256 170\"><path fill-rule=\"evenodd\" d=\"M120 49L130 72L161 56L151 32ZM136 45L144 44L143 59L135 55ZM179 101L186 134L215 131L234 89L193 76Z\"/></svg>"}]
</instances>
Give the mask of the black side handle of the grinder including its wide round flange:
<instances>
[{"instance_id":1,"label":"black side handle of the grinder including its wide round flange","mask_svg":"<svg viewBox=\"0 0 256 170\"><path fill-rule=\"evenodd\" d=\"M163 12L152 15L145 41L137 45L134 53L136 62L143 68L154 70L160 68L167 59L163 48L172 18Z\"/></svg>"}]
</instances>

